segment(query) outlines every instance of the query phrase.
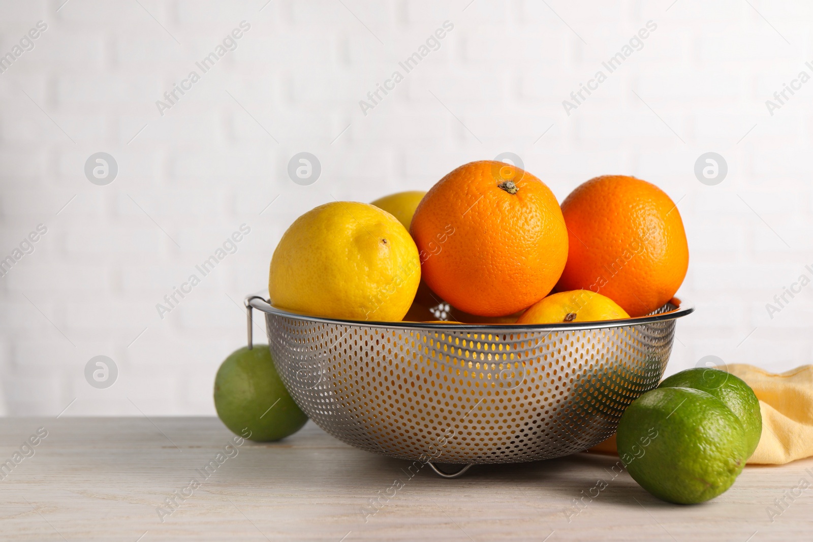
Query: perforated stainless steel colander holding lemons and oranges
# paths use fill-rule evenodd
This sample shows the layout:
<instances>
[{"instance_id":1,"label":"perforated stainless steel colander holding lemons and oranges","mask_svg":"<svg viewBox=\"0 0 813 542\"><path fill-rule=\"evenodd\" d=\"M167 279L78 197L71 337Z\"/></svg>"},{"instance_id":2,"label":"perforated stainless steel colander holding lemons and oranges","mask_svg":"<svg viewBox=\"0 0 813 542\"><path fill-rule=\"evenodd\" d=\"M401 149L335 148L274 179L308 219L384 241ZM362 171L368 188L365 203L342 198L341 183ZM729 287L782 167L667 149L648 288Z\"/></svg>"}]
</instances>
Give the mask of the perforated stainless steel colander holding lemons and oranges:
<instances>
[{"instance_id":1,"label":"perforated stainless steel colander holding lemons and oranges","mask_svg":"<svg viewBox=\"0 0 813 542\"><path fill-rule=\"evenodd\" d=\"M641 318L537 325L358 322L293 314L261 297L293 400L337 439L439 463L527 462L588 449L659 384L673 299ZM431 463L430 463L431 464Z\"/></svg>"}]
</instances>

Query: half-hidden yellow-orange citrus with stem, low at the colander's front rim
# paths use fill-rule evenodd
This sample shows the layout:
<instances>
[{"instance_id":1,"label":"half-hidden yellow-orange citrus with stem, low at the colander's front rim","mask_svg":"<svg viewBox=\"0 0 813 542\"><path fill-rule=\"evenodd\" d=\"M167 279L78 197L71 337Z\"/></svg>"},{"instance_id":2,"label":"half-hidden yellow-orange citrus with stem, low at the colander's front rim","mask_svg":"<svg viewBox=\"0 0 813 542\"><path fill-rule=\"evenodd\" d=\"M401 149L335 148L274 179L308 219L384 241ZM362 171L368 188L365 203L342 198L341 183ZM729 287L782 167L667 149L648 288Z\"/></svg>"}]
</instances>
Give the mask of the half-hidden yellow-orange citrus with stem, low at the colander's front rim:
<instances>
[{"instance_id":1,"label":"half-hidden yellow-orange citrus with stem, low at the colander's front rim","mask_svg":"<svg viewBox=\"0 0 813 542\"><path fill-rule=\"evenodd\" d=\"M543 297L516 323L596 322L624 318L629 318L629 314L609 297L590 290L572 290Z\"/></svg>"}]
</instances>

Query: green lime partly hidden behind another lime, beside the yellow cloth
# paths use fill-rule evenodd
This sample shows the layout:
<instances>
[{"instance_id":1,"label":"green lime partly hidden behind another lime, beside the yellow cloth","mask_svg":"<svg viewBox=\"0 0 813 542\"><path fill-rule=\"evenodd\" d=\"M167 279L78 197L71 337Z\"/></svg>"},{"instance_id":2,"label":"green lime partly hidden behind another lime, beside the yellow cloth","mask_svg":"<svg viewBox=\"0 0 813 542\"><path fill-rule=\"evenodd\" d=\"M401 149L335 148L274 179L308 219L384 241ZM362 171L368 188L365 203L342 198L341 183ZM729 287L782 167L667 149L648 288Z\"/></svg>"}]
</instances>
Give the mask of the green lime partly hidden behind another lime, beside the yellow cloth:
<instances>
[{"instance_id":1,"label":"green lime partly hidden behind another lime, beside the yellow cloth","mask_svg":"<svg viewBox=\"0 0 813 542\"><path fill-rule=\"evenodd\" d=\"M742 379L728 371L697 367L680 371L663 380L659 388L694 388L711 393L723 401L740 418L746 430L746 458L751 457L762 436L762 414L759 399Z\"/></svg>"}]
</instances>

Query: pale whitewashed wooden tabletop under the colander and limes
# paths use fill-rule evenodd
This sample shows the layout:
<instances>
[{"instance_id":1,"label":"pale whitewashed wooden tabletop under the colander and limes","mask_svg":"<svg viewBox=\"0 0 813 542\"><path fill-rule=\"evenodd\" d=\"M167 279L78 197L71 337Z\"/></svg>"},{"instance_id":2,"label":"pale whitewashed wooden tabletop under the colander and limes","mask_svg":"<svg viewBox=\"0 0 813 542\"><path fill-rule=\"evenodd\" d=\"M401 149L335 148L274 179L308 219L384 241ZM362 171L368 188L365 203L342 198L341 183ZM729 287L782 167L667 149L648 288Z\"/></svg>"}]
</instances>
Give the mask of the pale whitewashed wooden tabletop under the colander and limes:
<instances>
[{"instance_id":1,"label":"pale whitewashed wooden tabletop under the colander and limes","mask_svg":"<svg viewBox=\"0 0 813 542\"><path fill-rule=\"evenodd\" d=\"M0 472L0 540L813 540L813 488L785 497L773 522L767 512L801 479L813 486L813 460L746 467L693 506L659 501L626 472L612 479L617 459L587 453L410 478L409 462L312 423L280 443L226 449L219 465L233 435L216 418L6 418L0 462L13 464L38 427L48 436L33 456ZM589 493L576 515L574 499ZM182 494L172 510L165 500Z\"/></svg>"}]
</instances>

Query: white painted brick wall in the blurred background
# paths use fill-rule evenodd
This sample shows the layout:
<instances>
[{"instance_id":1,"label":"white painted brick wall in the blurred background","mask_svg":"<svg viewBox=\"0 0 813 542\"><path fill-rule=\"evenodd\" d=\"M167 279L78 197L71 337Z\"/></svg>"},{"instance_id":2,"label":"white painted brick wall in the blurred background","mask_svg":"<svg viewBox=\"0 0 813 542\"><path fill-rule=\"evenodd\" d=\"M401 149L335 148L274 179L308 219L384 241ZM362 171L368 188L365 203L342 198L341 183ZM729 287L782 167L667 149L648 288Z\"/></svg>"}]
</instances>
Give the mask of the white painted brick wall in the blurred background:
<instances>
[{"instance_id":1,"label":"white painted brick wall in the blurred background","mask_svg":"<svg viewBox=\"0 0 813 542\"><path fill-rule=\"evenodd\" d=\"M810 2L63 1L0 1L0 54L48 24L0 74L0 258L48 228L0 278L11 414L55 415L74 398L66 415L213 414L216 368L245 340L235 302L265 287L293 219L330 194L427 189L504 151L560 199L618 172L680 200L681 293L698 311L678 326L670 373L707 354L811 362L813 286L774 319L765 310L813 264L813 83L765 107L813 60ZM159 115L155 101L241 20L237 50ZM440 49L363 115L359 100L444 20ZM565 115L562 100L647 20L658 28L643 49ZM285 173L302 150L322 163L311 186ZM119 164L107 186L83 171L99 151ZM706 151L728 161L717 186L693 175ZM241 223L237 254L159 319L155 304ZM99 354L119 367L112 388L85 382Z\"/></svg>"}]
</instances>

